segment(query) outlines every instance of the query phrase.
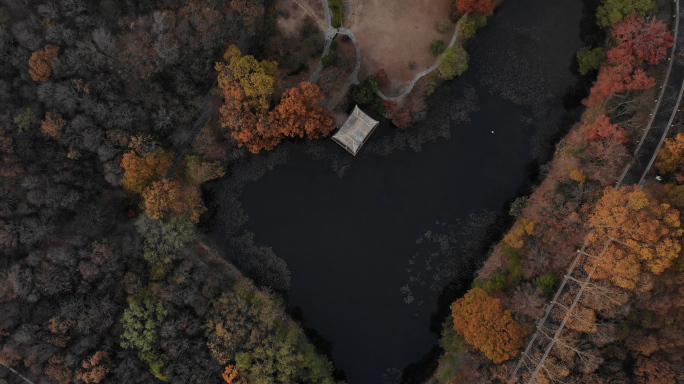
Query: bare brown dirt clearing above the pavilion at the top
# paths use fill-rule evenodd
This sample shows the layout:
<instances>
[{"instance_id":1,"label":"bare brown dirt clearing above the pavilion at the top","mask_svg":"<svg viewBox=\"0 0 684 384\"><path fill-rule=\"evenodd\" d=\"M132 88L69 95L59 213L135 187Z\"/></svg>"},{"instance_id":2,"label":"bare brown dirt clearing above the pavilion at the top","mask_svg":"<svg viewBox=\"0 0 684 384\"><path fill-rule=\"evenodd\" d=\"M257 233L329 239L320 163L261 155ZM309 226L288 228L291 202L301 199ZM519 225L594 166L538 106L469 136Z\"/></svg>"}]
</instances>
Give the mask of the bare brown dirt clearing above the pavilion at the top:
<instances>
[{"instance_id":1,"label":"bare brown dirt clearing above the pavilion at the top","mask_svg":"<svg viewBox=\"0 0 684 384\"><path fill-rule=\"evenodd\" d=\"M343 26L354 32L363 55L359 79L384 69L388 96L403 92L416 74L435 63L432 40L449 44L453 34L454 25L446 34L437 31L451 13L450 0L346 0L344 6ZM413 70L410 62L415 62Z\"/></svg>"}]
</instances>

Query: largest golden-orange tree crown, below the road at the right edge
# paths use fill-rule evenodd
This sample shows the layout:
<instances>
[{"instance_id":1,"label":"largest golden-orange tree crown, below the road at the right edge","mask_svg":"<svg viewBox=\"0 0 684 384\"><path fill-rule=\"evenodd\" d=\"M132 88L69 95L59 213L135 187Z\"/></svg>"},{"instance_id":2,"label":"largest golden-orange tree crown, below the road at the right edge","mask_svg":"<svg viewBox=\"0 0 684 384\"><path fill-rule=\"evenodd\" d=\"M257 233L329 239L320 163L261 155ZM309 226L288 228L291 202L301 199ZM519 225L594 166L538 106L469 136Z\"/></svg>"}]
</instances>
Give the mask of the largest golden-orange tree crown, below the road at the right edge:
<instances>
[{"instance_id":1,"label":"largest golden-orange tree crown, below the road at the right edge","mask_svg":"<svg viewBox=\"0 0 684 384\"><path fill-rule=\"evenodd\" d=\"M593 252L610 242L595 277L632 290L650 289L649 274L662 274L679 255L679 211L638 188L607 188L596 203L587 236Z\"/></svg>"}]
</instances>

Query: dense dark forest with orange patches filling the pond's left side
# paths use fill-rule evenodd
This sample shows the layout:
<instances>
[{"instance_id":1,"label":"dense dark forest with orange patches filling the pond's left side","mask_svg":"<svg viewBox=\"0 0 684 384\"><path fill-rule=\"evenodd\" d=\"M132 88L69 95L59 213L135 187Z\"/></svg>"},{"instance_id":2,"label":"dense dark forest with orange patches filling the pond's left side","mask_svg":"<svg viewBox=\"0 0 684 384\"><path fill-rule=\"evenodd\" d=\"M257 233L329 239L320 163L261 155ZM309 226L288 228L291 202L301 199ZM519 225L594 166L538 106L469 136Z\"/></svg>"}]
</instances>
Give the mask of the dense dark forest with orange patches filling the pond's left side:
<instances>
[{"instance_id":1,"label":"dense dark forest with orange patches filling the pond's left side","mask_svg":"<svg viewBox=\"0 0 684 384\"><path fill-rule=\"evenodd\" d=\"M245 277L196 227L200 185L239 160L228 146L331 129L317 87L275 103L278 64L237 48L263 52L271 10L0 4L0 383L332 383L273 291L281 266ZM276 131L195 141L219 107L224 127L256 114Z\"/></svg>"}]
</instances>

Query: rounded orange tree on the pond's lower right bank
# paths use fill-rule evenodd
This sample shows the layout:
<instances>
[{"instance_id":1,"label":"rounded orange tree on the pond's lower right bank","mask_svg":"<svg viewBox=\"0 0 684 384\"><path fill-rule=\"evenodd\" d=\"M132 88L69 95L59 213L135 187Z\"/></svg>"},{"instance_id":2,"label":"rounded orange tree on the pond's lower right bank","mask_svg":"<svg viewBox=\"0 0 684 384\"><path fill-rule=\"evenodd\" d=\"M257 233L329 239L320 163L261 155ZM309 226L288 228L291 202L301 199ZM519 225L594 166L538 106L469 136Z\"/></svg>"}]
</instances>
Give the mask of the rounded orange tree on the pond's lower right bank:
<instances>
[{"instance_id":1,"label":"rounded orange tree on the pond's lower right bank","mask_svg":"<svg viewBox=\"0 0 684 384\"><path fill-rule=\"evenodd\" d=\"M524 329L501 300L473 288L451 306L454 330L494 363L515 357L523 345Z\"/></svg>"}]
</instances>

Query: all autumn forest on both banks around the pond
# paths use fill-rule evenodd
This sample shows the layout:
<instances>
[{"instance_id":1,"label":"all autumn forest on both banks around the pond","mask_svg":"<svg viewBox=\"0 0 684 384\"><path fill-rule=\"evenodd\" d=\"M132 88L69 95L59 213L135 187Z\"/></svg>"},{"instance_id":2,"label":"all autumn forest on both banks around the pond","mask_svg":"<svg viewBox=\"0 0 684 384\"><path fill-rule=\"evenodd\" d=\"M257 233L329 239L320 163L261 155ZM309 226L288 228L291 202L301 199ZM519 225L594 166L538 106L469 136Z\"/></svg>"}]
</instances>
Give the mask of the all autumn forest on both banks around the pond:
<instances>
[{"instance_id":1,"label":"all autumn forest on both banks around the pond","mask_svg":"<svg viewBox=\"0 0 684 384\"><path fill-rule=\"evenodd\" d=\"M499 3L453 1L462 39ZM293 80L323 52L313 22L297 40L259 0L0 4L0 384L342 382L285 310L282 260L245 235L234 266L198 226L203 183L335 128L329 87ZM672 3L596 5L606 38L577 53L586 111L451 306L431 382L507 381L583 245L601 255L585 266L594 279L534 379L684 382L681 122L659 181L613 188L667 70ZM467 69L461 42L442 79ZM406 128L438 78L401 105L376 96L384 81L352 86L344 105Z\"/></svg>"}]
</instances>

